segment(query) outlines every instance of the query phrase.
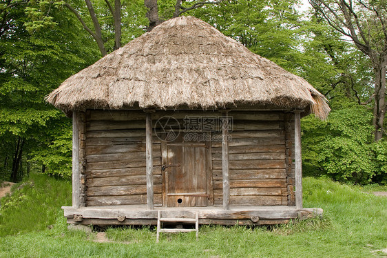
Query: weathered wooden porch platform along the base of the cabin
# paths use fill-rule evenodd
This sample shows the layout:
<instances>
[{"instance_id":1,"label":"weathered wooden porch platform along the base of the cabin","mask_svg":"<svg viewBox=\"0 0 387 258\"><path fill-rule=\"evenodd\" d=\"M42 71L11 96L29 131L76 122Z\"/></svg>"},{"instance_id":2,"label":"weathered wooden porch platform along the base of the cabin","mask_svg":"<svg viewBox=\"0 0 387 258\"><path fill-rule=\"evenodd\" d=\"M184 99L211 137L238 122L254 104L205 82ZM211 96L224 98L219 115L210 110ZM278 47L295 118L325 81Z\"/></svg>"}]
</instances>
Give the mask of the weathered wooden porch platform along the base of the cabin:
<instances>
[{"instance_id":1,"label":"weathered wooden porch platform along the base of the cabin","mask_svg":"<svg viewBox=\"0 0 387 258\"><path fill-rule=\"evenodd\" d=\"M85 225L156 225L158 210L161 210L162 217L171 218L194 218L197 211L199 224L220 225L286 224L291 219L306 219L323 212L320 208L297 210L294 206L230 206L229 210L222 206L155 207L148 210L146 205L62 208L68 223Z\"/></svg>"}]
</instances>

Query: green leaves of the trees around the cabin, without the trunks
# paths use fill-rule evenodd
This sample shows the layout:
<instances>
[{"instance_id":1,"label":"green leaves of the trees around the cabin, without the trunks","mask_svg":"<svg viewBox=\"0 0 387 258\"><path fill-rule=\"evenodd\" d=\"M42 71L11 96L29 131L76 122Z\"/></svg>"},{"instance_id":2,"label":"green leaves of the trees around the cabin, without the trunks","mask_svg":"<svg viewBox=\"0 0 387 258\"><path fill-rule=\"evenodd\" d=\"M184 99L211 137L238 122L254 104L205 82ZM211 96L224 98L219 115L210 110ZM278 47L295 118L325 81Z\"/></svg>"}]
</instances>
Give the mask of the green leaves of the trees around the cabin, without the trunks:
<instances>
[{"instance_id":1,"label":"green leaves of the trees around the cabin, without the trunks","mask_svg":"<svg viewBox=\"0 0 387 258\"><path fill-rule=\"evenodd\" d=\"M182 6L196 2L183 1ZM366 101L373 93L369 61L318 14L304 17L297 13L299 2L225 0L184 15L211 23L251 51L301 75L330 99L333 112L328 121L313 117L303 121L307 175L386 183L386 141L373 143L371 113L353 102ZM0 28L0 159L4 163L0 175L12 169L17 143L22 140L21 163L27 161L34 169L43 166L51 174L69 177L71 121L48 106L44 97L96 61L100 53L64 1L14 3L0 9L7 21ZM93 27L84 1L67 3ZM160 18L171 18L175 3L158 1ZM142 0L123 0L121 5L122 41L127 43L145 31L147 10ZM105 1L93 1L93 6L110 52L114 49L112 14Z\"/></svg>"}]
</instances>

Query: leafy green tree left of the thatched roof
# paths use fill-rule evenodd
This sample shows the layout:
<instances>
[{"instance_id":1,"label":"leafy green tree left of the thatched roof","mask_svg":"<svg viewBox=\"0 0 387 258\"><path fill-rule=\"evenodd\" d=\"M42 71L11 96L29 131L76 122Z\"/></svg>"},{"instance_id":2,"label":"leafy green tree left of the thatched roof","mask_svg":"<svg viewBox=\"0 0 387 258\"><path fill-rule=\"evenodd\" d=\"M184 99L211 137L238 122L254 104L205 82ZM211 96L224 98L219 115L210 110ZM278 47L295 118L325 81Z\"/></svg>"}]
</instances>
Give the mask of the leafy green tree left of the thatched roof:
<instances>
[{"instance_id":1,"label":"leafy green tree left of the thatched roof","mask_svg":"<svg viewBox=\"0 0 387 258\"><path fill-rule=\"evenodd\" d=\"M9 172L11 181L21 179L21 167L34 153L55 143L59 147L56 132L70 124L45 103L45 95L96 61L96 51L75 19L60 10L51 17L35 12L45 7L21 0L0 9L0 169Z\"/></svg>"}]
</instances>

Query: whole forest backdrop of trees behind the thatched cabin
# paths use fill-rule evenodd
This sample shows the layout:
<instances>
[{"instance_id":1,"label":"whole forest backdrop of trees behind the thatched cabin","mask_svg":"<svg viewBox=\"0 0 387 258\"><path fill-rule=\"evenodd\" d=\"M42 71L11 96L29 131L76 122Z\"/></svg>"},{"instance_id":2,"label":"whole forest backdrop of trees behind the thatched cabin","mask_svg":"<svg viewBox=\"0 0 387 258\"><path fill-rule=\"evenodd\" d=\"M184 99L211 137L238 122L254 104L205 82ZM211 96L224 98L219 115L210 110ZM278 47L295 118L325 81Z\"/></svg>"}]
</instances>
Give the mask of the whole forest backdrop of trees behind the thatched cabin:
<instances>
[{"instance_id":1,"label":"whole forest backdrop of trees behind the thatched cabin","mask_svg":"<svg viewBox=\"0 0 387 258\"><path fill-rule=\"evenodd\" d=\"M0 181L71 177L72 125L45 96L172 17L192 15L329 100L302 119L304 175L387 184L386 0L1 0Z\"/></svg>"}]
</instances>

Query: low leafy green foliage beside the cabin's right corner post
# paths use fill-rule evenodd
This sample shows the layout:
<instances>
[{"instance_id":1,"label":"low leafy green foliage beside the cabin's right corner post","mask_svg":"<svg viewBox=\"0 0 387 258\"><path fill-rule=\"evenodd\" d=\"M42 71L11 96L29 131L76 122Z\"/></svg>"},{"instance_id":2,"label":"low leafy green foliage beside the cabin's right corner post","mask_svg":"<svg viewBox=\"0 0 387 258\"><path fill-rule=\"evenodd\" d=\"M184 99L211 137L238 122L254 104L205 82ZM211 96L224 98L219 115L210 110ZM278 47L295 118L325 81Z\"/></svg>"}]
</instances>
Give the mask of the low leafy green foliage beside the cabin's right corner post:
<instances>
[{"instance_id":1,"label":"low leafy green foliage beside the cabin's right corner post","mask_svg":"<svg viewBox=\"0 0 387 258\"><path fill-rule=\"evenodd\" d=\"M372 114L348 104L333 110L327 121L302 120L302 154L306 175L331 175L340 181L369 183L386 177L386 143L373 143ZM383 181L379 181L383 182Z\"/></svg>"}]
</instances>

